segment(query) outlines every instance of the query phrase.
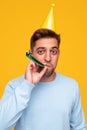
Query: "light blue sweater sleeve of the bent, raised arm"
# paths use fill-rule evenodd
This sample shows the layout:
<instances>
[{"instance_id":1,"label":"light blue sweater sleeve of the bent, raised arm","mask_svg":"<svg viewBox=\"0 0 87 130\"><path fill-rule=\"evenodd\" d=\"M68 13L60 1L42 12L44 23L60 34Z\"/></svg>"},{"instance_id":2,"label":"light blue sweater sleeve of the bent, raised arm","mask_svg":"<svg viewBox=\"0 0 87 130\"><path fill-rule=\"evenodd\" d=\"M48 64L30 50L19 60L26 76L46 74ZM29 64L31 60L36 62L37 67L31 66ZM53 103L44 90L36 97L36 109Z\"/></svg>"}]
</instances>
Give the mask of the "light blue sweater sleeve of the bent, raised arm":
<instances>
[{"instance_id":1,"label":"light blue sweater sleeve of the bent, raised arm","mask_svg":"<svg viewBox=\"0 0 87 130\"><path fill-rule=\"evenodd\" d=\"M34 85L25 79L16 87L13 82L8 83L0 101L0 130L10 130L15 126L28 106L33 88Z\"/></svg>"}]
</instances>

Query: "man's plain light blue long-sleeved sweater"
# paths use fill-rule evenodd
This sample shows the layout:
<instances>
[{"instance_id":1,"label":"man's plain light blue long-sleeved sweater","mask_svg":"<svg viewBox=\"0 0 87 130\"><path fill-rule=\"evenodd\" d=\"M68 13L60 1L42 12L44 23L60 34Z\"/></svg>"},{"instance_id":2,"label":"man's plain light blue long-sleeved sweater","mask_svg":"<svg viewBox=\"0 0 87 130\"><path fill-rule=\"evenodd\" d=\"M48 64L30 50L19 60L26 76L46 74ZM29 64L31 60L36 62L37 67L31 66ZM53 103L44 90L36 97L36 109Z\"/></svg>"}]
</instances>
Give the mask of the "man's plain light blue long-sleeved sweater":
<instances>
[{"instance_id":1,"label":"man's plain light blue long-sleeved sweater","mask_svg":"<svg viewBox=\"0 0 87 130\"><path fill-rule=\"evenodd\" d=\"M24 76L7 84L0 102L0 130L78 130L84 125L75 80L56 73L54 81L36 86Z\"/></svg>"}]
</instances>

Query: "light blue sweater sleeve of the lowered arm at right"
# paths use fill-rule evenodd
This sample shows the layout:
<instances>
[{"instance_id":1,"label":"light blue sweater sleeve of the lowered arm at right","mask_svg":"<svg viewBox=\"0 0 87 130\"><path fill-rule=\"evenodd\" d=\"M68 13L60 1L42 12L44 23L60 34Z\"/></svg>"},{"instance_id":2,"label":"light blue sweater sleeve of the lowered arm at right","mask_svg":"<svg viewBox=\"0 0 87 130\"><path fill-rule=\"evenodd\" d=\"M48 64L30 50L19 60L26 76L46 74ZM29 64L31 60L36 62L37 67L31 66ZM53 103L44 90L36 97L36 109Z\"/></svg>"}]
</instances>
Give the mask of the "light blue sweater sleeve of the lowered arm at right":
<instances>
[{"instance_id":1,"label":"light blue sweater sleeve of the lowered arm at right","mask_svg":"<svg viewBox=\"0 0 87 130\"><path fill-rule=\"evenodd\" d=\"M74 106L71 113L70 125L72 130L86 130L78 84L75 88Z\"/></svg>"}]
</instances>

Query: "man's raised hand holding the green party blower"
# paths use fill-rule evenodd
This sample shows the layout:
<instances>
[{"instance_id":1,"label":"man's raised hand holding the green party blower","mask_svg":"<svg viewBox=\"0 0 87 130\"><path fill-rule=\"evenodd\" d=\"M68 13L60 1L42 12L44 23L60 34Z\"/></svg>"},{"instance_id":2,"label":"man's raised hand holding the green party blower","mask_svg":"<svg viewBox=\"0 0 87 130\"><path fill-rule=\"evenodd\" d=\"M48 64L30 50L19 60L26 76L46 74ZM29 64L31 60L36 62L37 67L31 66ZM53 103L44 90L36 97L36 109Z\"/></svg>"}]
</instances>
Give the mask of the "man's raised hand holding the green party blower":
<instances>
[{"instance_id":1,"label":"man's raised hand holding the green party blower","mask_svg":"<svg viewBox=\"0 0 87 130\"><path fill-rule=\"evenodd\" d=\"M34 62L30 61L26 68L25 79L32 84L37 84L47 71L47 67L45 66L44 68L42 68L40 72L38 72L38 70L39 66Z\"/></svg>"}]
</instances>

